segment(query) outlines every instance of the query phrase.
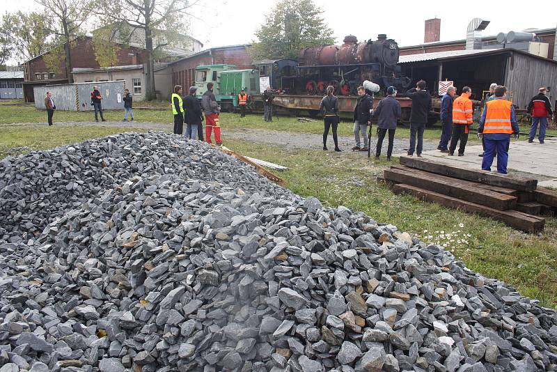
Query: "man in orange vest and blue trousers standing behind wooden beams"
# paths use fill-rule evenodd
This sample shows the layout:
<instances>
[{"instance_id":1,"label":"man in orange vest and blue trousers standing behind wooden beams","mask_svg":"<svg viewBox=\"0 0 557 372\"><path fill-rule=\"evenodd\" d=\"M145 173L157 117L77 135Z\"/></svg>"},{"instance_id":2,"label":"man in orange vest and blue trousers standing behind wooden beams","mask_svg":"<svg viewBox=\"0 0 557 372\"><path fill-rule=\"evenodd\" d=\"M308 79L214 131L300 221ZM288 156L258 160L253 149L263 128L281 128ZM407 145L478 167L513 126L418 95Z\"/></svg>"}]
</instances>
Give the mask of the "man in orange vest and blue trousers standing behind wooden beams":
<instances>
[{"instance_id":1,"label":"man in orange vest and blue trousers standing behind wooden beams","mask_svg":"<svg viewBox=\"0 0 557 372\"><path fill-rule=\"evenodd\" d=\"M507 173L510 136L519 132L515 107L512 107L512 102L505 100L505 93L505 86L495 88L495 99L485 104L478 127L485 144L482 169L491 171L493 157L497 153L497 172L503 174Z\"/></svg>"}]
</instances>

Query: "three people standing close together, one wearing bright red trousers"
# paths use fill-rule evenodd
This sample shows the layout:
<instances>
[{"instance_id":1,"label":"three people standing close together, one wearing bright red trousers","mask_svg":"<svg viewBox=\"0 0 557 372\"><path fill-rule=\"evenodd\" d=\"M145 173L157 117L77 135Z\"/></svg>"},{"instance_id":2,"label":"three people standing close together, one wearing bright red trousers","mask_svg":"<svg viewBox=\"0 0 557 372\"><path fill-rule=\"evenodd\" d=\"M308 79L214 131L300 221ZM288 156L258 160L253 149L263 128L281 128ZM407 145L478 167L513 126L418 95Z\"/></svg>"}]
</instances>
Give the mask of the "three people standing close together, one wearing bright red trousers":
<instances>
[{"instance_id":1,"label":"three people standing close together, one wearing bright red trousers","mask_svg":"<svg viewBox=\"0 0 557 372\"><path fill-rule=\"evenodd\" d=\"M172 113L174 114L174 134L183 133L189 139L203 139L203 121L205 120L205 140L211 144L211 134L217 146L222 145L219 113L221 107L213 93L213 84L207 83L207 91L201 96L201 104L196 97L197 87L190 86L189 94L182 99L182 86L174 86L171 96Z\"/></svg>"}]
</instances>

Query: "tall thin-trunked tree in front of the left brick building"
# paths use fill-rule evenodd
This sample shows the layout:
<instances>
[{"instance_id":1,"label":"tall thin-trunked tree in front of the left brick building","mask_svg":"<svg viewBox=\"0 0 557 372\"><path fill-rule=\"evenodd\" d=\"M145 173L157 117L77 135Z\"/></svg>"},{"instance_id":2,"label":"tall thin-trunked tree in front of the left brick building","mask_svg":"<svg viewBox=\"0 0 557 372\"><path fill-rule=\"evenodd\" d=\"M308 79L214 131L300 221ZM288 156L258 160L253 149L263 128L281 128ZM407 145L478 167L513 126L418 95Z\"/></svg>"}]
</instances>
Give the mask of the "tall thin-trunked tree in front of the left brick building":
<instances>
[{"instance_id":1,"label":"tall thin-trunked tree in front of the left brick building","mask_svg":"<svg viewBox=\"0 0 557 372\"><path fill-rule=\"evenodd\" d=\"M52 15L52 27L49 33L54 36L55 50L63 49L65 60L65 73L68 82L73 83L72 76L72 46L79 36L84 34L82 26L91 15L91 9L95 1L91 0L36 0L37 3L45 7L45 12ZM53 54L53 53L51 53ZM59 55L58 55L59 59ZM53 70L59 65L49 65Z\"/></svg>"}]
</instances>

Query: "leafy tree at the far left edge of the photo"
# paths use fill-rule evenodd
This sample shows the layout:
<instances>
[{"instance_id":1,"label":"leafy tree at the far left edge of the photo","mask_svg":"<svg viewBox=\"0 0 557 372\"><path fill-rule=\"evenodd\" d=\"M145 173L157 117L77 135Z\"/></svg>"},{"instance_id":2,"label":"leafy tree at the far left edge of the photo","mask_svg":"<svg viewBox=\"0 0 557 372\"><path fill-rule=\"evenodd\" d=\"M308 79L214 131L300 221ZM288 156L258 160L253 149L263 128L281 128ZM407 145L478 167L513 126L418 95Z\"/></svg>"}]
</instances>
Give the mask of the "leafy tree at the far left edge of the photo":
<instances>
[{"instance_id":1,"label":"leafy tree at the far left edge of the photo","mask_svg":"<svg viewBox=\"0 0 557 372\"><path fill-rule=\"evenodd\" d=\"M2 17L0 40L8 38L13 56L20 61L28 61L46 52L52 27L52 20L44 13L6 13ZM0 41L4 45L3 41Z\"/></svg>"}]
</instances>

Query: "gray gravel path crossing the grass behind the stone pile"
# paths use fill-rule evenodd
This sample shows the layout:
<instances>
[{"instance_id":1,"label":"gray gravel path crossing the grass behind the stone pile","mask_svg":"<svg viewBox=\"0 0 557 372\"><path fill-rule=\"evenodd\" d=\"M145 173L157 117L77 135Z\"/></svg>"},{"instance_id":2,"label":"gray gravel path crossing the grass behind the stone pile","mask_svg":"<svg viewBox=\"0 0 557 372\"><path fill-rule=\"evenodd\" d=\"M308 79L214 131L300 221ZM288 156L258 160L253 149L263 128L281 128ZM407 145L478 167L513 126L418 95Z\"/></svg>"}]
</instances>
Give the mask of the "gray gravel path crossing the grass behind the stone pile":
<instances>
[{"instance_id":1,"label":"gray gravel path crossing the grass behind the stone pile","mask_svg":"<svg viewBox=\"0 0 557 372\"><path fill-rule=\"evenodd\" d=\"M22 123L19 125L37 125L36 123ZM141 129L152 129L152 130L172 130L172 123L139 123L136 121L123 122L123 121L85 121L85 122L67 122L67 123L55 123L55 125L88 125L88 126L103 126L103 127L129 127L129 128L141 128ZM323 138L322 134L308 134L299 132L282 132L278 130L260 130L246 128L245 130L226 130L223 128L221 132L221 137L223 141L226 142L226 137L232 137L235 139L243 139L245 141L253 142L264 142L266 144L283 145L287 148L304 148L304 149L320 149L322 148ZM338 137L339 146L343 150L350 150L354 146L354 137ZM377 136L371 139L371 146L374 148L377 143ZM327 139L327 146L330 150L334 148L333 136L329 134ZM382 154L386 154L387 139L383 142ZM437 148L437 142L426 140L423 141L424 151L434 150ZM395 144L393 147L393 155L400 155L405 153L408 149L407 139L395 139ZM362 153L362 156L364 154Z\"/></svg>"}]
</instances>

